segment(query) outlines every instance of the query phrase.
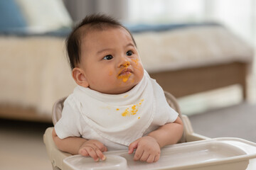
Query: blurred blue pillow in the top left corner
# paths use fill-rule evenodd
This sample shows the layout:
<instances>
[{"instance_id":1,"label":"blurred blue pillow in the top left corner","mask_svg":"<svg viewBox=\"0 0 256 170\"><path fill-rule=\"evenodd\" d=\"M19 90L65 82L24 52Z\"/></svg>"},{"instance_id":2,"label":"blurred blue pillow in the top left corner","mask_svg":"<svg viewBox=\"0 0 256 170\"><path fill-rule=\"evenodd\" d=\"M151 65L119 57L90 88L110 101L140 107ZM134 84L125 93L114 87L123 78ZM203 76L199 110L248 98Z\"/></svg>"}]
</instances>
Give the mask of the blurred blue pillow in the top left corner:
<instances>
[{"instance_id":1,"label":"blurred blue pillow in the top left corner","mask_svg":"<svg viewBox=\"0 0 256 170\"><path fill-rule=\"evenodd\" d=\"M0 31L26 27L26 20L14 0L0 0Z\"/></svg>"}]
</instances>

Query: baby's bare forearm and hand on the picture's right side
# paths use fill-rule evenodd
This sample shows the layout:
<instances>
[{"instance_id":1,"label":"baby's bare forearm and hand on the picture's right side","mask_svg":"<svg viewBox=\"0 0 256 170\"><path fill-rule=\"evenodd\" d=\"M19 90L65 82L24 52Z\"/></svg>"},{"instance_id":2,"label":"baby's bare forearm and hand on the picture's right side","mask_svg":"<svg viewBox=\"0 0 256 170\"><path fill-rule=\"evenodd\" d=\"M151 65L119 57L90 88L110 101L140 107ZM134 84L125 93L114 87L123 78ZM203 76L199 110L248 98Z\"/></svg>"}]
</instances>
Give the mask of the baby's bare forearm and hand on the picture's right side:
<instances>
[{"instance_id":1,"label":"baby's bare forearm and hand on the picture's right side","mask_svg":"<svg viewBox=\"0 0 256 170\"><path fill-rule=\"evenodd\" d=\"M135 140L129 145L129 154L134 152L134 161L157 162L160 157L161 147L175 144L180 140L183 133L183 123L181 118L177 118L174 123L166 123L149 135Z\"/></svg>"}]
</instances>

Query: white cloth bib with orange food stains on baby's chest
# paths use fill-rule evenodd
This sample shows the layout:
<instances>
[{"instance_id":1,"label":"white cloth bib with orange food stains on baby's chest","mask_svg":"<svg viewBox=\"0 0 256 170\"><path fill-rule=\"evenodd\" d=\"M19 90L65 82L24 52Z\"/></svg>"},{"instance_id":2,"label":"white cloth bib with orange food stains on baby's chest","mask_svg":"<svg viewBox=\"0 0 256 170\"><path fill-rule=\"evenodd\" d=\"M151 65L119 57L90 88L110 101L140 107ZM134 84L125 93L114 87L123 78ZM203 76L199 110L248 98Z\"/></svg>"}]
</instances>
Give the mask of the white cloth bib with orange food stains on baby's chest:
<instances>
[{"instance_id":1,"label":"white cloth bib with orange food stains on baby's chest","mask_svg":"<svg viewBox=\"0 0 256 170\"><path fill-rule=\"evenodd\" d=\"M149 74L124 94L102 94L78 86L74 90L85 123L102 137L127 145L143 133L154 118L156 99ZM132 134L132 135L131 135Z\"/></svg>"}]
</instances>

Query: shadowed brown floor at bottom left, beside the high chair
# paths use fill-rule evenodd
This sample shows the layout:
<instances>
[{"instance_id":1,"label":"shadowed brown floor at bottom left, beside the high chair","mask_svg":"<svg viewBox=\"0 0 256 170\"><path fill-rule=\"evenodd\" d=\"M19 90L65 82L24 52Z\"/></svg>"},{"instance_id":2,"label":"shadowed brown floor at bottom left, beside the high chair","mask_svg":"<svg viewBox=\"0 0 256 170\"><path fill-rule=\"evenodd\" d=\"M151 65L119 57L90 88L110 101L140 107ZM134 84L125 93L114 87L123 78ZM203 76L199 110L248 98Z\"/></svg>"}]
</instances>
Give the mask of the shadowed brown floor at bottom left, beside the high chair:
<instances>
[{"instance_id":1,"label":"shadowed brown floor at bottom left, beside the high chair","mask_svg":"<svg viewBox=\"0 0 256 170\"><path fill-rule=\"evenodd\" d=\"M0 170L48 170L43 133L46 123L0 120Z\"/></svg>"}]
</instances>

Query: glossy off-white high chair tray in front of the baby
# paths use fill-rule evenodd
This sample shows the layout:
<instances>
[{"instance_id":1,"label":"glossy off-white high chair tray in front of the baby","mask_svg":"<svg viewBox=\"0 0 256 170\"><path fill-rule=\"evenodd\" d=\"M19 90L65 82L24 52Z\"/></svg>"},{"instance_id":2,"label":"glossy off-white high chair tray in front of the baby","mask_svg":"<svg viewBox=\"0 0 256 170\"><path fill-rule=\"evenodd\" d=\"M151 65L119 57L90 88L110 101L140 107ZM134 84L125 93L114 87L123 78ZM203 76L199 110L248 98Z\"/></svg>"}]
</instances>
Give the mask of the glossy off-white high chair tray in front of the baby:
<instances>
[{"instance_id":1,"label":"glossy off-white high chair tray in front of the baby","mask_svg":"<svg viewBox=\"0 0 256 170\"><path fill-rule=\"evenodd\" d=\"M67 170L85 169L247 169L256 158L256 144L240 138L214 138L169 145L161 149L158 162L134 162L127 150L105 152L105 161L75 155L63 160Z\"/></svg>"}]
</instances>

